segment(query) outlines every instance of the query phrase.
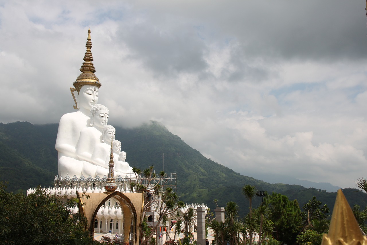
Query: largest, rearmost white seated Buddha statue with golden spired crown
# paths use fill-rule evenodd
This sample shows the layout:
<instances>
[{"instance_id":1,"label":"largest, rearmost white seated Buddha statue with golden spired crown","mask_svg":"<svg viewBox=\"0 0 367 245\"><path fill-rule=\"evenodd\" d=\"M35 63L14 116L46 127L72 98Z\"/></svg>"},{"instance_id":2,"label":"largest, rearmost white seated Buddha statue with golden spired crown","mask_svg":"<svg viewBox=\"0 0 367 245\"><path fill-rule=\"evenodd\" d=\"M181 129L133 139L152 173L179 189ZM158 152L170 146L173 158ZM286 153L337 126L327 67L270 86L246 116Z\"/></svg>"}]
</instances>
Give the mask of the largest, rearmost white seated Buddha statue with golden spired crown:
<instances>
[{"instance_id":1,"label":"largest, rearmost white seated Buddha statue with golden spired crown","mask_svg":"<svg viewBox=\"0 0 367 245\"><path fill-rule=\"evenodd\" d=\"M77 111L63 115L59 122L55 148L58 152L58 172L59 176L70 178L81 175L81 163L76 154L76 144L82 129L90 127L90 109L98 102L98 89L101 83L94 74L95 68L92 63L91 53L92 42L88 30L87 51L84 55L84 62L80 68L82 72L73 83L75 88L70 88L74 98L74 109Z\"/></svg>"}]
</instances>

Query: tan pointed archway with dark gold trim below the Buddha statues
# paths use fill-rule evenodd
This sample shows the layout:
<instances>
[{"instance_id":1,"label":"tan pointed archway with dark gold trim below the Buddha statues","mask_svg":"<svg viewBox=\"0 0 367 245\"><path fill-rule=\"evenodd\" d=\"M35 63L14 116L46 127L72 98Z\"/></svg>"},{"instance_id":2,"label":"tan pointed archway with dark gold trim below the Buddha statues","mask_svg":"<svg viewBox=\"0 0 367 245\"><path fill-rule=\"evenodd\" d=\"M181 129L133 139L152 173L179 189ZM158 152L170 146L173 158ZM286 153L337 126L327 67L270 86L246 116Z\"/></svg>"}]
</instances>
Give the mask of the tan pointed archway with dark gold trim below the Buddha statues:
<instances>
[{"instance_id":1,"label":"tan pointed archway with dark gold trim below the Buddha statues","mask_svg":"<svg viewBox=\"0 0 367 245\"><path fill-rule=\"evenodd\" d=\"M124 213L124 244L129 242L129 234L132 224L133 244L137 245L139 241L139 229L143 212L143 193L121 193L115 191L112 193L87 193L90 198L80 198L83 203L82 212L88 219L88 230L91 236L94 233L94 222L99 208L110 198L116 199ZM80 211L79 211L80 212Z\"/></svg>"}]
</instances>

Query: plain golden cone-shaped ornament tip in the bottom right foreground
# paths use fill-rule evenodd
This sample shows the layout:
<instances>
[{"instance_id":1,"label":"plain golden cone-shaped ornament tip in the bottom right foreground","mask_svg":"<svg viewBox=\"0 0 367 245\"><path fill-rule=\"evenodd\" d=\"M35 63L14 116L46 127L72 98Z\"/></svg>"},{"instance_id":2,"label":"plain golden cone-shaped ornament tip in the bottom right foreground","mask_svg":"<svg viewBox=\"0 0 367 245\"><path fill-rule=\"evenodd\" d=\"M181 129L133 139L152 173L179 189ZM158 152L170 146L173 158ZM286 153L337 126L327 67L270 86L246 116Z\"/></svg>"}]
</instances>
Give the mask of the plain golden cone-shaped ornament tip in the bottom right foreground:
<instances>
[{"instance_id":1,"label":"plain golden cone-shaped ornament tip in the bottom right foreground","mask_svg":"<svg viewBox=\"0 0 367 245\"><path fill-rule=\"evenodd\" d=\"M329 233L324 234L321 245L367 245L356 218L341 189L331 216Z\"/></svg>"}]
</instances>

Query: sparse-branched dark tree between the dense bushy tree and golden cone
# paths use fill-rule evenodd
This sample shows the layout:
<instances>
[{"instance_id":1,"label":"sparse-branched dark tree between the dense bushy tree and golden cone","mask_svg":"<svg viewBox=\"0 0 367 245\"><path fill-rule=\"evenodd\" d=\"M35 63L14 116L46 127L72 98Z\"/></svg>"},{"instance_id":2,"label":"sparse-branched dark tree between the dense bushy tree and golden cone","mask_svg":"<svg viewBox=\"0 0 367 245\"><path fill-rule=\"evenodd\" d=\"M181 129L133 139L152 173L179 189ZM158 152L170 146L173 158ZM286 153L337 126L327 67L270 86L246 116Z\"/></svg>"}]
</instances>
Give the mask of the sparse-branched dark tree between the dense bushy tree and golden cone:
<instances>
[{"instance_id":1,"label":"sparse-branched dark tree between the dense bushy tree and golden cone","mask_svg":"<svg viewBox=\"0 0 367 245\"><path fill-rule=\"evenodd\" d=\"M305 205L302 206L302 209L305 210L305 213L302 213L306 225L311 223L311 220L324 220L329 217L328 213L330 213L329 208L326 204L320 207L322 202L316 199L314 196L311 200L308 201Z\"/></svg>"}]
</instances>

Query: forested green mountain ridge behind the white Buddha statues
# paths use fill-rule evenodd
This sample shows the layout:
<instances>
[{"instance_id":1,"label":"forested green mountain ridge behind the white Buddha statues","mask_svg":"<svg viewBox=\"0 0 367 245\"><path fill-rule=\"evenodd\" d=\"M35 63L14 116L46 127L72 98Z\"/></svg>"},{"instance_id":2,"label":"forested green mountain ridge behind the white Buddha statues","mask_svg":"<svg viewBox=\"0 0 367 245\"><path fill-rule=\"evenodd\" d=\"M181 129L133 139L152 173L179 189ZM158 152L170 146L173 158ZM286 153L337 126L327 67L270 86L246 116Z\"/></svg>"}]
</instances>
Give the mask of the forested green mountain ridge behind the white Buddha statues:
<instances>
[{"instance_id":1,"label":"forested green mountain ridge behind the white Buddha statues","mask_svg":"<svg viewBox=\"0 0 367 245\"><path fill-rule=\"evenodd\" d=\"M55 140L58 124L32 125L28 122L0 124L0 180L9 182L8 191L50 186L57 174ZM300 185L269 184L243 176L222 166L191 148L179 136L172 134L157 122L133 129L116 127L116 139L127 152L130 166L141 169L154 165L157 172L177 173L177 193L186 203L206 203L214 209L228 201L237 202L240 215L248 211L248 201L241 194L244 184L255 185L259 191L281 193L297 199L300 207L316 196L333 209L336 192L324 192ZM163 159L164 155L164 159ZM344 189L351 206L367 206L367 194L354 188ZM257 207L261 198L255 198Z\"/></svg>"}]
</instances>

